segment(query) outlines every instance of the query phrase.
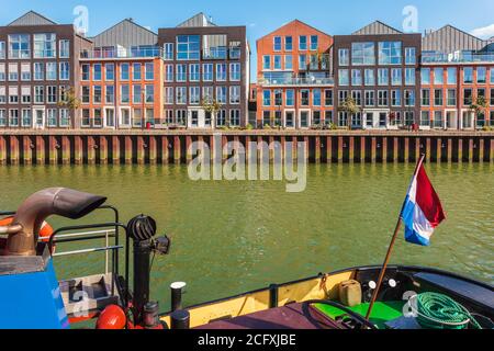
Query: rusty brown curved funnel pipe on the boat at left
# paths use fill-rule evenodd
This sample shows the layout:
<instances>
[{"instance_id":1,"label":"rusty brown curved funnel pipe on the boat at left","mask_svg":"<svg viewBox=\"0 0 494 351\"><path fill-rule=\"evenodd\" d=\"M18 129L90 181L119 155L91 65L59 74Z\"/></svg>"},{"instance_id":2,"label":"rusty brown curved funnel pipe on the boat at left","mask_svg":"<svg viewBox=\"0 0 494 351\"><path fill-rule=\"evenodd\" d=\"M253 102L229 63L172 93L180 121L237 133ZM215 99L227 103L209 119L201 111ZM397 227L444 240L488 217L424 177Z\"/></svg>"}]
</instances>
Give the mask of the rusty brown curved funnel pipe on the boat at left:
<instances>
[{"instance_id":1,"label":"rusty brown curved funnel pipe on the boat at left","mask_svg":"<svg viewBox=\"0 0 494 351\"><path fill-rule=\"evenodd\" d=\"M106 201L106 197L82 193L65 188L42 190L27 197L19 207L9 234L5 256L35 256L37 238L43 222L58 215L70 219L79 219Z\"/></svg>"}]
</instances>

